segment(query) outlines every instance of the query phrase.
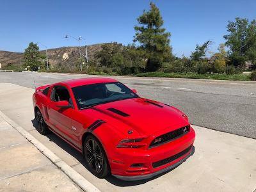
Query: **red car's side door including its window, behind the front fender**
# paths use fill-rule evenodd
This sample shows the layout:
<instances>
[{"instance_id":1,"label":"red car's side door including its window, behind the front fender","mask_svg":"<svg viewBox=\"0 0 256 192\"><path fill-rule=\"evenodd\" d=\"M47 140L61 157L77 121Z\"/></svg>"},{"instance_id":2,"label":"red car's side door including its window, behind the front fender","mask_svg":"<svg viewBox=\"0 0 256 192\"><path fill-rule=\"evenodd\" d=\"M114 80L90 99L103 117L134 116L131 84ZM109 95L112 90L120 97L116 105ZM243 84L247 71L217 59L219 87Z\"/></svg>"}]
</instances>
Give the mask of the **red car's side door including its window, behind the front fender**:
<instances>
[{"instance_id":1,"label":"red car's side door including its window, behind the front fender","mask_svg":"<svg viewBox=\"0 0 256 192\"><path fill-rule=\"evenodd\" d=\"M67 100L70 103L71 107L60 108L57 105L57 102L61 100ZM70 93L65 86L56 85L52 88L47 111L49 115L49 122L54 126L54 131L56 131L66 140L72 142L70 129L72 129L71 116L72 113L74 113L74 106L72 103L72 99L70 99Z\"/></svg>"}]
</instances>

